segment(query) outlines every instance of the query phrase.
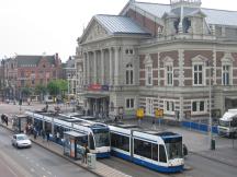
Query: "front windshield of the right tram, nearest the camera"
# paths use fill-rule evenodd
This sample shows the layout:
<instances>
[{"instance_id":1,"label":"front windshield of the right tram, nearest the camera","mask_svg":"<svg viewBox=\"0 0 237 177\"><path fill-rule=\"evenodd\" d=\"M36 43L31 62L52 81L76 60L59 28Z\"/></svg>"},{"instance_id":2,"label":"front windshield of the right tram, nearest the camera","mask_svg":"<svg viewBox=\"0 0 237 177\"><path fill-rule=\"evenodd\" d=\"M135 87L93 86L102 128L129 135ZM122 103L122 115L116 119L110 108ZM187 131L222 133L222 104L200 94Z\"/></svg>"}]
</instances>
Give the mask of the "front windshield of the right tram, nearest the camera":
<instances>
[{"instance_id":1,"label":"front windshield of the right tram, nearest the camera","mask_svg":"<svg viewBox=\"0 0 237 177\"><path fill-rule=\"evenodd\" d=\"M169 138L165 142L169 160L182 158L182 138Z\"/></svg>"}]
</instances>

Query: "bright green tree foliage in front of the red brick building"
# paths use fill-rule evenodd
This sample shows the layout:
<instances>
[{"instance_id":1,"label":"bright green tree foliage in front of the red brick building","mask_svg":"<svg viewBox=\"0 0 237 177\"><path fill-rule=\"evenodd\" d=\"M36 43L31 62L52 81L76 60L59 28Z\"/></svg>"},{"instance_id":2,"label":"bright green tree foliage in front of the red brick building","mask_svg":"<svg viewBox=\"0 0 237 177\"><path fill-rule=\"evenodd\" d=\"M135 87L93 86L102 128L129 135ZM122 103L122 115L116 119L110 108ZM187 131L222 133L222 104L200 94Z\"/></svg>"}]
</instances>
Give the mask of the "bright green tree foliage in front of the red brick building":
<instances>
[{"instance_id":1,"label":"bright green tree foliage in front of the red brick building","mask_svg":"<svg viewBox=\"0 0 237 177\"><path fill-rule=\"evenodd\" d=\"M68 82L66 80L55 80L50 81L47 85L47 90L50 95L59 95L63 91L67 90Z\"/></svg>"}]
</instances>

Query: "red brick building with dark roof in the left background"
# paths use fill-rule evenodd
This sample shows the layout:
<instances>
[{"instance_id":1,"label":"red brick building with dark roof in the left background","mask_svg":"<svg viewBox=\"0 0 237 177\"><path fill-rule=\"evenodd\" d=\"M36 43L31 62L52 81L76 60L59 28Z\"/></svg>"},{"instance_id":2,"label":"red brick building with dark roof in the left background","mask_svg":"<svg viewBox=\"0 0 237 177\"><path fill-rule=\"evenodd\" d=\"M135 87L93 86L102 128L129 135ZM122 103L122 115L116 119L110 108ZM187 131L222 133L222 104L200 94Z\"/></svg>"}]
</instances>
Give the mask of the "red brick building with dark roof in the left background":
<instances>
[{"instance_id":1,"label":"red brick building with dark roof in the left background","mask_svg":"<svg viewBox=\"0 0 237 177\"><path fill-rule=\"evenodd\" d=\"M61 61L54 56L15 56L4 60L5 98L21 96L21 88L47 85L61 78Z\"/></svg>"}]
</instances>

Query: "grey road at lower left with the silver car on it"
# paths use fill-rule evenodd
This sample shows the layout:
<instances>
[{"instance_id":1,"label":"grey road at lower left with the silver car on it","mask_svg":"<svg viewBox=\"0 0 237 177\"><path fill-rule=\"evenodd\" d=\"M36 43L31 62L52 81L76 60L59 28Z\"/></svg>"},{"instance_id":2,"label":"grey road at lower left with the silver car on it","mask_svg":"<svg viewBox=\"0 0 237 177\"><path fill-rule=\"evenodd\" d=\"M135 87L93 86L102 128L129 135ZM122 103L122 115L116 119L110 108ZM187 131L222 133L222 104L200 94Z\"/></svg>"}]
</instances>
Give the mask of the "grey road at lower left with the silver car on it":
<instances>
[{"instance_id":1,"label":"grey road at lower left with the silver car on it","mask_svg":"<svg viewBox=\"0 0 237 177\"><path fill-rule=\"evenodd\" d=\"M11 145L11 132L0 127L0 172L4 177L94 177L93 174L33 144L31 149Z\"/></svg>"}]
</instances>

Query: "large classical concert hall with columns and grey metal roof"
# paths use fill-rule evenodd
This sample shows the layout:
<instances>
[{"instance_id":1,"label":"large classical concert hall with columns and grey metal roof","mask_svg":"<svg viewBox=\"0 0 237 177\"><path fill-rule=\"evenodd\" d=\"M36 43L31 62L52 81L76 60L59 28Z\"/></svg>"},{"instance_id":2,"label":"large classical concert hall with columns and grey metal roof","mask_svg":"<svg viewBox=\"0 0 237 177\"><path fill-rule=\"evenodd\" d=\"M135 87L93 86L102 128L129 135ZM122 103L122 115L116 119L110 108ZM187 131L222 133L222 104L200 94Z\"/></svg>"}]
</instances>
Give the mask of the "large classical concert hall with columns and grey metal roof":
<instances>
[{"instance_id":1,"label":"large classical concert hall with columns and grey metal roof","mask_svg":"<svg viewBox=\"0 0 237 177\"><path fill-rule=\"evenodd\" d=\"M237 107L235 16L201 0L131 0L120 15L93 16L78 42L86 109L182 120Z\"/></svg>"}]
</instances>

